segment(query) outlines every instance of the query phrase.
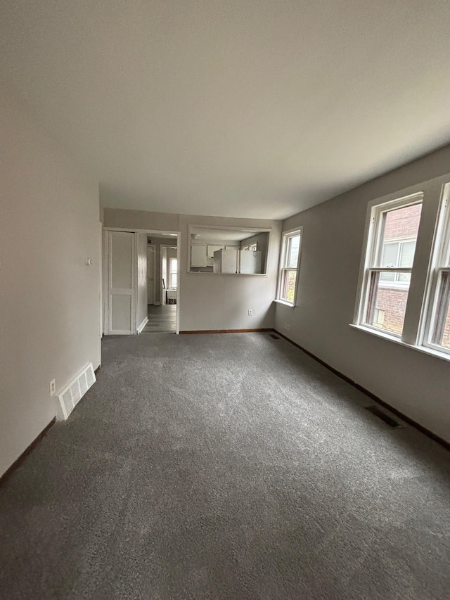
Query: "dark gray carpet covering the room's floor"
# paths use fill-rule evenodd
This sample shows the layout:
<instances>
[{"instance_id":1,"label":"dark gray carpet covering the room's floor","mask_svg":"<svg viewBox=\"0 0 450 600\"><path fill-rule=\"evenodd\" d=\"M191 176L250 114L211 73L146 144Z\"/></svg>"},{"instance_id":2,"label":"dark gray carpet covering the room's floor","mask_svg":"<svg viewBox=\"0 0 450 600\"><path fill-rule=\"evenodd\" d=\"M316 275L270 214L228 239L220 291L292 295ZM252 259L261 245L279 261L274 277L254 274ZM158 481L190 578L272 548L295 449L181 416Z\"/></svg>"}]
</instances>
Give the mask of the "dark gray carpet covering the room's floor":
<instances>
[{"instance_id":1,"label":"dark gray carpet covering the room's floor","mask_svg":"<svg viewBox=\"0 0 450 600\"><path fill-rule=\"evenodd\" d=\"M449 599L449 453L368 404L264 333L105 339L0 489L1 599Z\"/></svg>"}]
</instances>

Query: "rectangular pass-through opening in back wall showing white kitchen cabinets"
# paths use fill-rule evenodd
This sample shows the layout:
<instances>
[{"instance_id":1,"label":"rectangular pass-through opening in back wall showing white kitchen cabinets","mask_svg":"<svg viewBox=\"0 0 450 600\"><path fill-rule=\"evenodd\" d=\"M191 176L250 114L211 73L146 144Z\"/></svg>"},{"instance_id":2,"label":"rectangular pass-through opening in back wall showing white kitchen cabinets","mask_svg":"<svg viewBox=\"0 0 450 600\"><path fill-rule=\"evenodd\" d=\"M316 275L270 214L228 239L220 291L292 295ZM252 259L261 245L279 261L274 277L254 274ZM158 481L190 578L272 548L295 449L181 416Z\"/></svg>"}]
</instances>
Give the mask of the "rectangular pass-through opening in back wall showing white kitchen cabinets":
<instances>
[{"instance_id":1,"label":"rectangular pass-through opening in back wall showing white kitchen cabinets","mask_svg":"<svg viewBox=\"0 0 450 600\"><path fill-rule=\"evenodd\" d=\"M270 229L189 226L189 271L266 274Z\"/></svg>"}]
</instances>

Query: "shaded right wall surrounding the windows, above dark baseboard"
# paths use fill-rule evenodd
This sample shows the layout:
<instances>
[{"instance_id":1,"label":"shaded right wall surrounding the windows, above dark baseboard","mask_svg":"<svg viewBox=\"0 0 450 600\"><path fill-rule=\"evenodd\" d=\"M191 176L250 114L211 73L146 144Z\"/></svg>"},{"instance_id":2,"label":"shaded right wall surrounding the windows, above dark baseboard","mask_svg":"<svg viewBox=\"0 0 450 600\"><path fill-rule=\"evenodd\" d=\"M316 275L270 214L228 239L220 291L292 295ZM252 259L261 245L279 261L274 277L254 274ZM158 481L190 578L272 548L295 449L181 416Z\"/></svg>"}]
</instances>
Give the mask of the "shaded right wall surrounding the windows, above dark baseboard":
<instances>
[{"instance_id":1,"label":"shaded right wall surrounding the windows, above dark baseboard","mask_svg":"<svg viewBox=\"0 0 450 600\"><path fill-rule=\"evenodd\" d=\"M298 304L277 305L276 329L402 413L450 441L450 366L349 327L369 200L450 171L450 147L290 217L303 225Z\"/></svg>"}]
</instances>

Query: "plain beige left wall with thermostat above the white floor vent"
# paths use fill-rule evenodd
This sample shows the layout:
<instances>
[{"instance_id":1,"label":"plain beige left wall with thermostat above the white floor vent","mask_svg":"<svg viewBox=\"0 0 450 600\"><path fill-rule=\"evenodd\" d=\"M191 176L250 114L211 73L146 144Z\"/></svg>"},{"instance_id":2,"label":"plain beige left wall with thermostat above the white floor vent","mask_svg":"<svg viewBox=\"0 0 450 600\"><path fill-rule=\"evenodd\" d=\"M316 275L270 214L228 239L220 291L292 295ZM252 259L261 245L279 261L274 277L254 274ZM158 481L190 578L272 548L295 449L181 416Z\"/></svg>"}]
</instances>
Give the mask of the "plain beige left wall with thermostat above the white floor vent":
<instances>
[{"instance_id":1,"label":"plain beige left wall with thermostat above the white floor vent","mask_svg":"<svg viewBox=\"0 0 450 600\"><path fill-rule=\"evenodd\" d=\"M98 186L0 93L0 474L100 363ZM94 259L86 267L87 257Z\"/></svg>"}]
</instances>

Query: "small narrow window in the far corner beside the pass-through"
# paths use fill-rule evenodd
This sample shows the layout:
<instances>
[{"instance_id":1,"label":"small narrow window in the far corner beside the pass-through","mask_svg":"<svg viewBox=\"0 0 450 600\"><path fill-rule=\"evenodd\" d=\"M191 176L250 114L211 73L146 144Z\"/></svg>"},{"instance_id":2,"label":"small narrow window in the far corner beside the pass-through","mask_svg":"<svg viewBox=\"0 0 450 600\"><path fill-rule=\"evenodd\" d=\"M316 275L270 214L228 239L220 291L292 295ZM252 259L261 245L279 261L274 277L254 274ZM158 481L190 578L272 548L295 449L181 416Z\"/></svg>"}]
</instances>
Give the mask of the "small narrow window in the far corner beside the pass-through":
<instances>
[{"instance_id":1,"label":"small narrow window in the far corner beside the pass-through","mask_svg":"<svg viewBox=\"0 0 450 600\"><path fill-rule=\"evenodd\" d=\"M277 300L295 305L302 228L283 233Z\"/></svg>"}]
</instances>

